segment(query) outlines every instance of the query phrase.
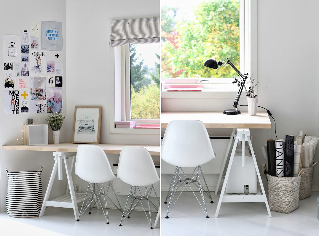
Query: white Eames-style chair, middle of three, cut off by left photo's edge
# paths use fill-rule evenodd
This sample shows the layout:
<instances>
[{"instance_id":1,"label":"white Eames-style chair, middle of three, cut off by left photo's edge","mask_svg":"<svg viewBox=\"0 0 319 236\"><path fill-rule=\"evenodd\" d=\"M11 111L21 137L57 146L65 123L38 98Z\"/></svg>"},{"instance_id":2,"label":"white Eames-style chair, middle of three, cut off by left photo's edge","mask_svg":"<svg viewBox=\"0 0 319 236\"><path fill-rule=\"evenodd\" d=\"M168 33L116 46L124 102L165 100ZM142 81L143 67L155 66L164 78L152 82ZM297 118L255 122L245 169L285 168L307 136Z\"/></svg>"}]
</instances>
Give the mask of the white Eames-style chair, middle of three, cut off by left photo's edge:
<instances>
[{"instance_id":1,"label":"white Eames-style chair, middle of three, cut off by left photo's edge","mask_svg":"<svg viewBox=\"0 0 319 236\"><path fill-rule=\"evenodd\" d=\"M117 170L117 177L120 178L123 182L131 185L129 196L127 197L123 215L120 221L120 226L122 226L122 221L125 218L130 218L131 212L135 209L137 204L140 203L152 229L153 227L150 204L157 211L159 210L159 207L156 207L151 202L149 196L153 190L159 205L159 199L153 186L153 184L159 182L159 176L156 172L152 157L147 149L144 147L122 147ZM151 185L151 187L147 188L147 186L149 185ZM145 193L143 193L143 191L140 190L138 186L144 186ZM131 203L128 205L130 196ZM149 218L142 204L142 200L147 200ZM126 209L127 206L128 208Z\"/></svg>"}]
</instances>

